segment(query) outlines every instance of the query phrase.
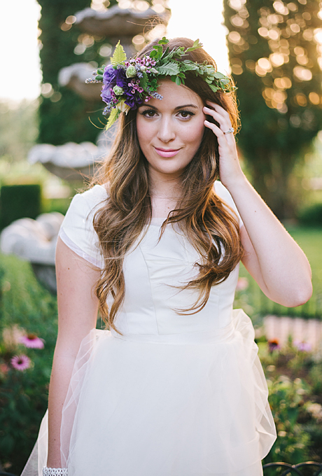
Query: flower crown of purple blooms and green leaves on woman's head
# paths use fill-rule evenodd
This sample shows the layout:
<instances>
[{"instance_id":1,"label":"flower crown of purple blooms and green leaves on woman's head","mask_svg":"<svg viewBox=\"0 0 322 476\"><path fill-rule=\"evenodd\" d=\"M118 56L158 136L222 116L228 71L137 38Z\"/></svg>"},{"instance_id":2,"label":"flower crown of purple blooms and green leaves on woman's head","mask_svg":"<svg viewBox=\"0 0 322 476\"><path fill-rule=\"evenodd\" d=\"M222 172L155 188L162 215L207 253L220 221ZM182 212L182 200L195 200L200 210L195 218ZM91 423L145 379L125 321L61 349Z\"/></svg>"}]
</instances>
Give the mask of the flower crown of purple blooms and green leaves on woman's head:
<instances>
[{"instance_id":1,"label":"flower crown of purple blooms and green leaves on woman's head","mask_svg":"<svg viewBox=\"0 0 322 476\"><path fill-rule=\"evenodd\" d=\"M121 112L128 113L130 109L137 109L143 102L149 99L163 99L158 94L158 79L169 76L174 83L185 84L186 72L195 71L196 76L201 76L209 85L212 91L230 92L237 87L232 85L229 76L219 73L214 64L204 62L198 64L190 59L181 59L188 52L202 48L202 43L197 39L191 48L179 46L169 50L167 45L169 40L163 37L153 46L149 56L143 58L131 58L127 61L123 46L120 41L111 57L109 66L102 66L94 71L94 78L86 80L86 83L104 83L101 97L107 106L103 111L106 115L110 113L106 124L106 130L115 123ZM181 59L181 61L178 61Z\"/></svg>"}]
</instances>

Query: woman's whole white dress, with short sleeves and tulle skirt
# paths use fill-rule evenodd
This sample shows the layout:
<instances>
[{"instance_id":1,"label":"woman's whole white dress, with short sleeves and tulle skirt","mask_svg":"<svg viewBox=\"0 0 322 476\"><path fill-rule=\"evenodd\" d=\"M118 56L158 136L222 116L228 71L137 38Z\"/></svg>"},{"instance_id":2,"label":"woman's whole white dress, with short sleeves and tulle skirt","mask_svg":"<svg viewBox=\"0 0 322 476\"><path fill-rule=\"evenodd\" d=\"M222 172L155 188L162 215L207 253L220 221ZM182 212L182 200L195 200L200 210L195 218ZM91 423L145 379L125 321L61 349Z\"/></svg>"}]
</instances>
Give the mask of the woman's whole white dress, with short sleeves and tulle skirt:
<instances>
[{"instance_id":1,"label":"woman's whole white dress, with short sleeves and tulle skirt","mask_svg":"<svg viewBox=\"0 0 322 476\"><path fill-rule=\"evenodd\" d=\"M235 207L220 182L216 193ZM60 237L102 267L94 211L103 186L73 197ZM199 259L178 227L153 219L124 262L115 331L82 342L62 417L69 476L260 476L276 439L251 320L232 309L238 266L191 316L197 291L178 287ZM41 476L47 418L22 476Z\"/></svg>"}]
</instances>

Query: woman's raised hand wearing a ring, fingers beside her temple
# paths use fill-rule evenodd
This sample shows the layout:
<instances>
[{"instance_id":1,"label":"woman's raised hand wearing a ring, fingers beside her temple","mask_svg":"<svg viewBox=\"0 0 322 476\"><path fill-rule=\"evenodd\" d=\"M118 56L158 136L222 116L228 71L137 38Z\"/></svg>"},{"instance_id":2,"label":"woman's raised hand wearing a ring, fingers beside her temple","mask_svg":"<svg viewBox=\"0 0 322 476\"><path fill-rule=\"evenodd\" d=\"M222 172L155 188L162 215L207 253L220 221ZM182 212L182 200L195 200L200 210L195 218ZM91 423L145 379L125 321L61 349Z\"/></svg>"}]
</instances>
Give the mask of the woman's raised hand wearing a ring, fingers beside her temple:
<instances>
[{"instance_id":1,"label":"woman's raised hand wearing a ring, fingers beside her temple","mask_svg":"<svg viewBox=\"0 0 322 476\"><path fill-rule=\"evenodd\" d=\"M204 125L209 127L209 129L216 134L218 139L219 175L221 183L229 188L230 184L244 176L239 165L234 134L232 132L224 134L224 132L230 130L232 123L230 122L230 116L225 109L218 106L215 102L207 101L207 104L209 107L204 106L204 113L213 117L220 127L216 126L214 123L209 123L208 120L204 121Z\"/></svg>"}]
</instances>

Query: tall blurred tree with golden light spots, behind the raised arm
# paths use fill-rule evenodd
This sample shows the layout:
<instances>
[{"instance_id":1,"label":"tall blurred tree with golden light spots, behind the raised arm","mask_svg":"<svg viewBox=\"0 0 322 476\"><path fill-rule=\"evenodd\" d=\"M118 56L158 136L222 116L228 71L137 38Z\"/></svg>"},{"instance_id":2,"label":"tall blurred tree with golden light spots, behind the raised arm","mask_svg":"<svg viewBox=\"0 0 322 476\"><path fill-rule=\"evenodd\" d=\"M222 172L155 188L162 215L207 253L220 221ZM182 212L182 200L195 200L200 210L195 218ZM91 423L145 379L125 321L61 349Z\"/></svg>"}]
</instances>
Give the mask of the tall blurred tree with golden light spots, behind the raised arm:
<instances>
[{"instance_id":1,"label":"tall blurred tree with golden light spots, behind the raised arm","mask_svg":"<svg viewBox=\"0 0 322 476\"><path fill-rule=\"evenodd\" d=\"M279 218L295 216L300 187L292 172L322 128L319 10L318 0L224 0L238 144Z\"/></svg>"}]
</instances>

